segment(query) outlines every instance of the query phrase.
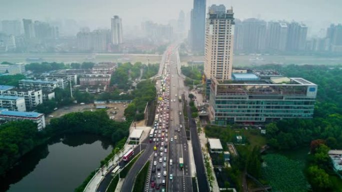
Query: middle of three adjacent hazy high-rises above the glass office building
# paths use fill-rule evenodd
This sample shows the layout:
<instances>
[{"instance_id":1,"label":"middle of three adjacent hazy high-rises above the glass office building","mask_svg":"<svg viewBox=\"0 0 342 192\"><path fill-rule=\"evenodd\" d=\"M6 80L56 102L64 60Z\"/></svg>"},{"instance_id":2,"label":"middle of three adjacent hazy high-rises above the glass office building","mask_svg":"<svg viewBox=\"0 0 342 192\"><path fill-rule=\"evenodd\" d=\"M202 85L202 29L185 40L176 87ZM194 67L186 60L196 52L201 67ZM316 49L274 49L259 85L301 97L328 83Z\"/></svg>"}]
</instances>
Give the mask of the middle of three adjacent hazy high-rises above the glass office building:
<instances>
[{"instance_id":1,"label":"middle of three adjacent hazy high-rises above the glass office building","mask_svg":"<svg viewBox=\"0 0 342 192\"><path fill-rule=\"evenodd\" d=\"M284 51L287 41L287 23L270 21L267 25L266 48Z\"/></svg>"}]
</instances>

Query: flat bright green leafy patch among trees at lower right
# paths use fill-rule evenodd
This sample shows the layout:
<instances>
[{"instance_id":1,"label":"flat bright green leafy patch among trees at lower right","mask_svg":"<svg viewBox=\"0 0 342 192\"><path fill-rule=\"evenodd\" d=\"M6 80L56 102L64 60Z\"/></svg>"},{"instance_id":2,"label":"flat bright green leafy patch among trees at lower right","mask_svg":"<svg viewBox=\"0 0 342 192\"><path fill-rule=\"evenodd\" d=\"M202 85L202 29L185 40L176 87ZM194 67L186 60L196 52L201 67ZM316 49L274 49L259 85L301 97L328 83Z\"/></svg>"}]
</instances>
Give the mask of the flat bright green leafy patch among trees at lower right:
<instances>
[{"instance_id":1,"label":"flat bright green leafy patch among trees at lower right","mask_svg":"<svg viewBox=\"0 0 342 192\"><path fill-rule=\"evenodd\" d=\"M273 191L307 192L309 184L303 173L304 164L279 154L267 154L262 157L262 177L272 186Z\"/></svg>"}]
</instances>

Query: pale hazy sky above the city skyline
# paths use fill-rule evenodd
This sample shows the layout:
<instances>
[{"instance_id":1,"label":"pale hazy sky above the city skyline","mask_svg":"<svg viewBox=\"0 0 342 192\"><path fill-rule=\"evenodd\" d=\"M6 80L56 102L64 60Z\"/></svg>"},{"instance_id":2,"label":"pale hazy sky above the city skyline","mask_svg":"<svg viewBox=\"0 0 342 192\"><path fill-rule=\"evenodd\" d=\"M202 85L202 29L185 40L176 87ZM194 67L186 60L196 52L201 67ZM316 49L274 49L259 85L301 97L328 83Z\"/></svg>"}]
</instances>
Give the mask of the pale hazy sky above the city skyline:
<instances>
[{"instance_id":1,"label":"pale hazy sky above the city skyline","mask_svg":"<svg viewBox=\"0 0 342 192\"><path fill-rule=\"evenodd\" d=\"M342 22L342 0L207 0L206 5L233 6L235 18L305 22L313 33L330 22ZM167 23L179 11L190 11L193 0L0 0L0 20L72 18L91 28L110 27L110 17L119 15L124 25L143 20ZM85 21L85 22L84 22Z\"/></svg>"}]
</instances>

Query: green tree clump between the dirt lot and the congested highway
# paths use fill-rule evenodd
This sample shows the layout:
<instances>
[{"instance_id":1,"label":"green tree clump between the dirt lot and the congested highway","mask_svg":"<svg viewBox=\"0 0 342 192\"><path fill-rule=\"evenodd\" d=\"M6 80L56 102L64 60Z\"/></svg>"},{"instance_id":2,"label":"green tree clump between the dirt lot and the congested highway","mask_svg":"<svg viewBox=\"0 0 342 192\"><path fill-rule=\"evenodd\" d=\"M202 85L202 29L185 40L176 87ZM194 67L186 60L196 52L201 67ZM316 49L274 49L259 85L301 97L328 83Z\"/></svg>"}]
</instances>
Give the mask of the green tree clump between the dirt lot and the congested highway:
<instances>
[{"instance_id":1,"label":"green tree clump between the dirt lot and the congested highway","mask_svg":"<svg viewBox=\"0 0 342 192\"><path fill-rule=\"evenodd\" d=\"M134 99L124 110L124 116L129 119L142 120L147 102L151 102L156 98L154 81L145 80L140 82L131 95Z\"/></svg>"}]
</instances>

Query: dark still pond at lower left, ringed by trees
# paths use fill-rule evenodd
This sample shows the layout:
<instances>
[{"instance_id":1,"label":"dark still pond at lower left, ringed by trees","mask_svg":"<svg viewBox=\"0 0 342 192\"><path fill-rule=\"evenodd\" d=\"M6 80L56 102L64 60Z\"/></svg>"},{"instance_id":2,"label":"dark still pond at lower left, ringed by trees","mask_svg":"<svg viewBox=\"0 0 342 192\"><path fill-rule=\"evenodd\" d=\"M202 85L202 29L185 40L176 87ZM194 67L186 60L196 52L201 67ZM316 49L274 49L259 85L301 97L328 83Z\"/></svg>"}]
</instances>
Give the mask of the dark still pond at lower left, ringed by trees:
<instances>
[{"instance_id":1,"label":"dark still pond at lower left, ringed by trees","mask_svg":"<svg viewBox=\"0 0 342 192\"><path fill-rule=\"evenodd\" d=\"M26 154L0 182L0 192L73 192L112 150L94 135L67 135Z\"/></svg>"}]
</instances>

